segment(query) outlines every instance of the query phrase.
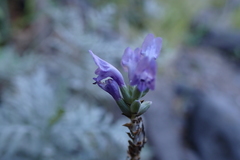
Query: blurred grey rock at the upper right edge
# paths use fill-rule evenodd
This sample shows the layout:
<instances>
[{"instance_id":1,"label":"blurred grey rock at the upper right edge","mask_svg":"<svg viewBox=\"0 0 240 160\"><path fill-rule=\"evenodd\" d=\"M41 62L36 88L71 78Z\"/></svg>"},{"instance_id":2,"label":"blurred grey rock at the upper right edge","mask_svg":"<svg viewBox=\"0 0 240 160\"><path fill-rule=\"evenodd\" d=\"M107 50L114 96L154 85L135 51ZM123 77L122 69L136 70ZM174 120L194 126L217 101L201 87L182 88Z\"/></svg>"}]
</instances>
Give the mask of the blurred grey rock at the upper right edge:
<instances>
[{"instance_id":1,"label":"blurred grey rock at the upper right edge","mask_svg":"<svg viewBox=\"0 0 240 160\"><path fill-rule=\"evenodd\" d=\"M190 34L192 43L216 48L240 66L240 30L232 27L229 18L233 10L230 6L204 10L192 20Z\"/></svg>"}]
</instances>

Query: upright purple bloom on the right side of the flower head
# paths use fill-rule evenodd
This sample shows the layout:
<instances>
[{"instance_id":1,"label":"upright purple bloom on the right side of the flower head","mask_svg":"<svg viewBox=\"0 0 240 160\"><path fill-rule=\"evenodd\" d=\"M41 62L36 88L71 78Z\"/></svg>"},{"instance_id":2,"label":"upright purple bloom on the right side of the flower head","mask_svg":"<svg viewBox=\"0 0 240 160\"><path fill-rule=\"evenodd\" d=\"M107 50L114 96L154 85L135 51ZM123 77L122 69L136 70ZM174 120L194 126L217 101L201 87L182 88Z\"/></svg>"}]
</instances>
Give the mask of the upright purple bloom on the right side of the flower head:
<instances>
[{"instance_id":1,"label":"upright purple bloom on the right side of the flower head","mask_svg":"<svg viewBox=\"0 0 240 160\"><path fill-rule=\"evenodd\" d=\"M126 48L122 57L122 66L128 72L131 86L137 85L140 91L154 89L157 72L156 58L162 47L162 39L148 34L142 48Z\"/></svg>"}]
</instances>

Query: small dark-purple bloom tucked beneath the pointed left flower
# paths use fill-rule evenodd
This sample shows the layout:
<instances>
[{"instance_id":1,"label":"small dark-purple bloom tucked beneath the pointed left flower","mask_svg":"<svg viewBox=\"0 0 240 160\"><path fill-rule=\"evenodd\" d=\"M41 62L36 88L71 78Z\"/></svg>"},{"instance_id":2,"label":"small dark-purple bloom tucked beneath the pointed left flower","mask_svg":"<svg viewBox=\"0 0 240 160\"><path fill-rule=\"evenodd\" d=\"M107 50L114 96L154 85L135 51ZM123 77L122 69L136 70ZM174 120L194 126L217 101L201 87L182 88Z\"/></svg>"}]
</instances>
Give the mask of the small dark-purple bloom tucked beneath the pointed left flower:
<instances>
[{"instance_id":1,"label":"small dark-purple bloom tucked beneath the pointed left flower","mask_svg":"<svg viewBox=\"0 0 240 160\"><path fill-rule=\"evenodd\" d=\"M107 79L104 83L97 82L97 84L100 88L108 92L116 101L122 98L119 93L119 86L113 79Z\"/></svg>"}]
</instances>

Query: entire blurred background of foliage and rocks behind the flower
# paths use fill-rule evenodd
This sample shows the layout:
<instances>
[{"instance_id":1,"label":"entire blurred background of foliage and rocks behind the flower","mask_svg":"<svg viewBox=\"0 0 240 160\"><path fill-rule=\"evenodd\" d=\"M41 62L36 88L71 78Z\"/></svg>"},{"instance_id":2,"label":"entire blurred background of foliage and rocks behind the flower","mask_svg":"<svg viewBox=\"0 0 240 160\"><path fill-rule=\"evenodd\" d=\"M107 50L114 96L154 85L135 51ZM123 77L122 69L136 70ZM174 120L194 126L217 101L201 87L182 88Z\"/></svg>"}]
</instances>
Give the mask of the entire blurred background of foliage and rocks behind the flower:
<instances>
[{"instance_id":1,"label":"entire blurred background of foliage and rocks behind the flower","mask_svg":"<svg viewBox=\"0 0 240 160\"><path fill-rule=\"evenodd\" d=\"M163 48L142 160L240 160L239 0L0 0L0 159L125 159L128 119L88 50L123 71L148 33Z\"/></svg>"}]
</instances>

